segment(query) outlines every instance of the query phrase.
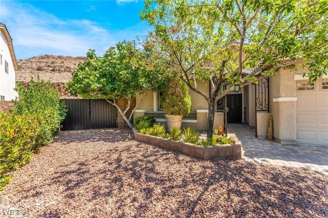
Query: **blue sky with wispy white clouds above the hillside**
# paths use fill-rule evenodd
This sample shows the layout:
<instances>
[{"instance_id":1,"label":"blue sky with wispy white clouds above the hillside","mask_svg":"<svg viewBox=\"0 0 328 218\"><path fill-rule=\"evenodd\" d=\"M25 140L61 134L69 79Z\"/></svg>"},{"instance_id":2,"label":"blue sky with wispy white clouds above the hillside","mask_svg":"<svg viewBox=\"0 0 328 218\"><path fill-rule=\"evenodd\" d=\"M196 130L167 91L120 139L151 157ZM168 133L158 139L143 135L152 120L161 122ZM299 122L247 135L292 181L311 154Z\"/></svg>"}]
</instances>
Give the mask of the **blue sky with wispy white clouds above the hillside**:
<instances>
[{"instance_id":1,"label":"blue sky with wispy white clouds above the hillside","mask_svg":"<svg viewBox=\"0 0 328 218\"><path fill-rule=\"evenodd\" d=\"M147 35L143 1L4 1L0 22L13 38L17 59L37 55L101 56L118 41Z\"/></svg>"}]
</instances>

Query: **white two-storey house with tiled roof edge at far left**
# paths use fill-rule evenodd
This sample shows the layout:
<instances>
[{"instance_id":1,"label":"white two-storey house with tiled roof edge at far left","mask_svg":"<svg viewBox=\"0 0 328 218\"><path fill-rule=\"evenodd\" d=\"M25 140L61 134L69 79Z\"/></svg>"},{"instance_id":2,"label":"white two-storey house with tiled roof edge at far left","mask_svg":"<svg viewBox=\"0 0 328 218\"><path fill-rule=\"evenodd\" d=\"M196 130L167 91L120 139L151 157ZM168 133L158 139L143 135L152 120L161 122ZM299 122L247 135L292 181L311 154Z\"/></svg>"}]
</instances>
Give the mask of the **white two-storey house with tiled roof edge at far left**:
<instances>
[{"instance_id":1,"label":"white two-storey house with tiled roof edge at far left","mask_svg":"<svg viewBox=\"0 0 328 218\"><path fill-rule=\"evenodd\" d=\"M15 71L18 70L12 38L6 25L0 23L0 100L10 101L18 96L15 88Z\"/></svg>"}]
</instances>

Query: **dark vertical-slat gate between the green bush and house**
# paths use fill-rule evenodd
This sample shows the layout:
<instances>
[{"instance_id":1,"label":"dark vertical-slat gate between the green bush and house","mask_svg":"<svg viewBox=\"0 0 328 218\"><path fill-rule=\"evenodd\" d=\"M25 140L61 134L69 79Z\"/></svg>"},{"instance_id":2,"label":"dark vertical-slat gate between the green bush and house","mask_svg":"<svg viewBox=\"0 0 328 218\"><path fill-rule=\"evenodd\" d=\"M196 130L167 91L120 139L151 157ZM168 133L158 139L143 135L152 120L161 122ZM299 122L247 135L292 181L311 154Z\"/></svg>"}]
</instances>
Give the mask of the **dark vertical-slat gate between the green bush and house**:
<instances>
[{"instance_id":1,"label":"dark vertical-slat gate between the green bush and house","mask_svg":"<svg viewBox=\"0 0 328 218\"><path fill-rule=\"evenodd\" d=\"M117 127L117 109L101 99L64 99L67 115L62 130Z\"/></svg>"}]
</instances>

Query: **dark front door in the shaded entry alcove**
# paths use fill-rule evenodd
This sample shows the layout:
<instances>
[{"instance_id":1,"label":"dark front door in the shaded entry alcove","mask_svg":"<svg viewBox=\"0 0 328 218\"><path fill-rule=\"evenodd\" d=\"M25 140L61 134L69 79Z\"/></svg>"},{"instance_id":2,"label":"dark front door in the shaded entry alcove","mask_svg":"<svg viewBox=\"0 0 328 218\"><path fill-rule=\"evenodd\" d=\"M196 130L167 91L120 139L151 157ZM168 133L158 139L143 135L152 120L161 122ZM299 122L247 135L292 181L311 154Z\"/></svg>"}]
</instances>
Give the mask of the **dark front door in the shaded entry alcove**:
<instances>
[{"instance_id":1,"label":"dark front door in the shaded entry alcove","mask_svg":"<svg viewBox=\"0 0 328 218\"><path fill-rule=\"evenodd\" d=\"M227 115L228 123L241 123L241 96L241 94L227 95L227 106L229 108Z\"/></svg>"}]
</instances>

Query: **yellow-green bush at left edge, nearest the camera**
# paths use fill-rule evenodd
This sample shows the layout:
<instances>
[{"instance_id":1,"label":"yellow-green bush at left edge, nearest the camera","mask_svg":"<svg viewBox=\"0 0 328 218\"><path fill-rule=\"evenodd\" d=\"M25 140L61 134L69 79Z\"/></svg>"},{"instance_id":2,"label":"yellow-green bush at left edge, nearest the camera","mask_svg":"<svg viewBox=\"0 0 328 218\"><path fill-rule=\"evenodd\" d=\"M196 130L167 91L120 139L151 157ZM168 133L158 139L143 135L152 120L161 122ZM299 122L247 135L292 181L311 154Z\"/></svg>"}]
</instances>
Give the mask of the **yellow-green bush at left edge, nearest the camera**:
<instances>
[{"instance_id":1,"label":"yellow-green bush at left edge, nearest the camera","mask_svg":"<svg viewBox=\"0 0 328 218\"><path fill-rule=\"evenodd\" d=\"M31 159L39 130L35 117L0 114L0 190L11 181L8 173Z\"/></svg>"}]
</instances>

